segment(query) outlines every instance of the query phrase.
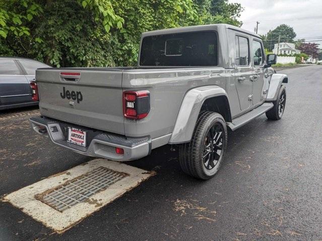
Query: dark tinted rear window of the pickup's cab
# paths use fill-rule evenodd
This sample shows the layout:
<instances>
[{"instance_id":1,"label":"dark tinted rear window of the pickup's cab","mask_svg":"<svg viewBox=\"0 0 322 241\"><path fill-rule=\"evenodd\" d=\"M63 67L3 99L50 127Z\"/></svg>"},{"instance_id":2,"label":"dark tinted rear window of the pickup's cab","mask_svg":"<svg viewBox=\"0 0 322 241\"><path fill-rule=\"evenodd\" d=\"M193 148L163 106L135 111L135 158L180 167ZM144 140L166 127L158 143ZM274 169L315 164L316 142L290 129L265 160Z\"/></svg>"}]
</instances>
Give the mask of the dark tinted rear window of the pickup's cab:
<instances>
[{"instance_id":1,"label":"dark tinted rear window of the pickup's cab","mask_svg":"<svg viewBox=\"0 0 322 241\"><path fill-rule=\"evenodd\" d=\"M142 40L141 66L216 66L214 31L148 36Z\"/></svg>"}]
</instances>

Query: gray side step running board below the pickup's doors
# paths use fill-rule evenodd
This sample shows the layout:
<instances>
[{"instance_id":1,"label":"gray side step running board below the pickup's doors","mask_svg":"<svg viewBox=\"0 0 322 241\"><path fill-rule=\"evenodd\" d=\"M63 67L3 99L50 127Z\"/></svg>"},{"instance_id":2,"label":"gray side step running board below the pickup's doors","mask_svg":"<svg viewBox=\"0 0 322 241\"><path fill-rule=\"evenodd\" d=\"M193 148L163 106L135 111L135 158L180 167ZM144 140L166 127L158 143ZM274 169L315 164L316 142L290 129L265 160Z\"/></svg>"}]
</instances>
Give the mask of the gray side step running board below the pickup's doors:
<instances>
[{"instance_id":1,"label":"gray side step running board below the pickup's doors","mask_svg":"<svg viewBox=\"0 0 322 241\"><path fill-rule=\"evenodd\" d=\"M250 122L253 118L256 118L257 116L260 116L261 114L264 114L269 109L273 108L272 102L266 102L262 104L261 106L249 111L248 113L233 119L232 123L228 122L227 126L232 130L235 131L237 128L245 125L246 123Z\"/></svg>"}]
</instances>

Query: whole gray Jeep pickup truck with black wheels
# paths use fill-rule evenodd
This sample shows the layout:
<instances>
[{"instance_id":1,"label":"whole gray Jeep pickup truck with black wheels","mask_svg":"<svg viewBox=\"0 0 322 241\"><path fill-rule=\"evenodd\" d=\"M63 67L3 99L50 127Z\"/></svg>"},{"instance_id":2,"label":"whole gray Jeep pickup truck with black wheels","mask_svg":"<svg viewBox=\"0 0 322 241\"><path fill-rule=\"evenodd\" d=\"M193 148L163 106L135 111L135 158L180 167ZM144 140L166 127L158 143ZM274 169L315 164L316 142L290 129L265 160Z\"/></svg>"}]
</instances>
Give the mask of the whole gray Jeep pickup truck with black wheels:
<instances>
[{"instance_id":1,"label":"whole gray Jeep pickup truck with black wheels","mask_svg":"<svg viewBox=\"0 0 322 241\"><path fill-rule=\"evenodd\" d=\"M142 34L137 67L41 68L33 130L75 152L115 161L179 147L182 170L214 176L232 131L266 113L280 119L287 76L261 37L225 25Z\"/></svg>"}]
</instances>

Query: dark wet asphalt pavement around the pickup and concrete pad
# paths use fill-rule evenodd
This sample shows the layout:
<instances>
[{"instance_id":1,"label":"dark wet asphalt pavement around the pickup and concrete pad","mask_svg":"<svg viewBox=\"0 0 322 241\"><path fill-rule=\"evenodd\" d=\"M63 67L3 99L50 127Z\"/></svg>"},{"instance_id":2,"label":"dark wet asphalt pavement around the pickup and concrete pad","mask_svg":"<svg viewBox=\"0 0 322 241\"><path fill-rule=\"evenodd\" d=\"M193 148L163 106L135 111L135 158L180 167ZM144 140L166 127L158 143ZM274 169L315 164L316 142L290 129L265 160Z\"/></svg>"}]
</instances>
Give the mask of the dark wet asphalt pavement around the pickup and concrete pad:
<instances>
[{"instance_id":1,"label":"dark wet asphalt pavement around the pickup and concrete pad","mask_svg":"<svg viewBox=\"0 0 322 241\"><path fill-rule=\"evenodd\" d=\"M221 170L186 176L169 146L128 162L156 175L62 234L0 202L0 240L322 240L322 67L289 77L284 116L228 134ZM0 197L93 158L36 135L35 108L0 114Z\"/></svg>"}]
</instances>

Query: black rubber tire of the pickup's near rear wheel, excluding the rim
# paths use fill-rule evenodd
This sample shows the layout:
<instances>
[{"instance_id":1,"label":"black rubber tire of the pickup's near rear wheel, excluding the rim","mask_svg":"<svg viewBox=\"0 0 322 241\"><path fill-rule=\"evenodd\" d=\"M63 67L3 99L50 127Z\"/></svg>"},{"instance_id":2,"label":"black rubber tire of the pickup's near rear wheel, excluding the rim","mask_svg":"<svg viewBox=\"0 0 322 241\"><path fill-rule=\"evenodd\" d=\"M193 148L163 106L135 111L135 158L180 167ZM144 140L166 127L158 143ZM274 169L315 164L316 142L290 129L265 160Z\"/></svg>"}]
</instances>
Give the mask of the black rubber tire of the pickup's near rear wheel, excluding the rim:
<instances>
[{"instance_id":1,"label":"black rubber tire of the pickup's near rear wheel, excluding the rim","mask_svg":"<svg viewBox=\"0 0 322 241\"><path fill-rule=\"evenodd\" d=\"M222 127L222 149L219 160L213 169L208 170L204 164L205 140L208 138L211 128ZM212 129L213 130L213 129ZM215 138L214 138L215 139ZM219 170L225 156L227 146L227 127L223 116L212 111L202 111L199 114L198 121L192 134L191 141L180 145L179 147L179 163L184 173L207 180L213 177ZM216 151L217 153L217 151ZM213 154L214 156L215 154Z\"/></svg>"}]
</instances>

